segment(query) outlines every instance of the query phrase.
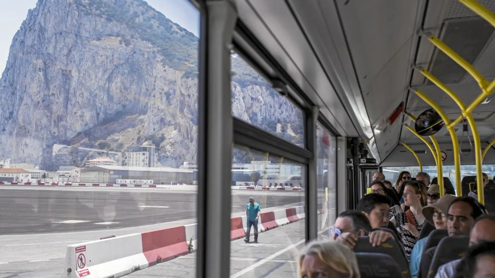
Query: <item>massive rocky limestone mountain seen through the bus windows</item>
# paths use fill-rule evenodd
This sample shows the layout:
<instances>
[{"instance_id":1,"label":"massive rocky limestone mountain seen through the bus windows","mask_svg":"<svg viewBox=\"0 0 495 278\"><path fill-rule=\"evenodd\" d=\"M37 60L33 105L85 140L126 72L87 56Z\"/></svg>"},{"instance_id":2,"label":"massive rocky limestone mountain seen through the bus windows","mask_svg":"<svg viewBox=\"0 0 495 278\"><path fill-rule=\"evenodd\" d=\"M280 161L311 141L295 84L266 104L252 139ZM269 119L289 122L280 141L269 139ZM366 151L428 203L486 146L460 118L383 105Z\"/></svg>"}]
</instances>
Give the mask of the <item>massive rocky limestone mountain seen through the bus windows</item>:
<instances>
[{"instance_id":1,"label":"massive rocky limestone mountain seen through the bus windows","mask_svg":"<svg viewBox=\"0 0 495 278\"><path fill-rule=\"evenodd\" d=\"M145 1L39 0L0 79L0 159L53 170L155 145L162 165L195 162L197 67L198 38ZM233 115L301 144L294 106L232 69Z\"/></svg>"}]
</instances>

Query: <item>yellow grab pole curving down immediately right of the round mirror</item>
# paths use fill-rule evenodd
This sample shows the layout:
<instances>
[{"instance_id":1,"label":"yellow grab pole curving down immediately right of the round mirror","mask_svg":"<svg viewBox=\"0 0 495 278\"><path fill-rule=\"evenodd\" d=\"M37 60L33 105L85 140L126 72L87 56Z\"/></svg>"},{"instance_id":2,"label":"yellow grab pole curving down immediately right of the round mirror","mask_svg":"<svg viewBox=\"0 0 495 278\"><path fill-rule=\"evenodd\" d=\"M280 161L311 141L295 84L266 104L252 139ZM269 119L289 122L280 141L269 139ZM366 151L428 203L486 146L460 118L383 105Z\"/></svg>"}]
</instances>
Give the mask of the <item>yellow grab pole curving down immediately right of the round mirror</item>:
<instances>
[{"instance_id":1,"label":"yellow grab pole curving down immediately right of the round mirror","mask_svg":"<svg viewBox=\"0 0 495 278\"><path fill-rule=\"evenodd\" d=\"M438 85L438 84L437 84ZM440 86L439 86L440 87ZM437 113L442 117L442 119L445 122L445 125L447 127L448 132L450 133L450 139L452 140L452 149L453 149L453 156L454 156L454 168L455 168L455 189L457 191L457 196L461 196L462 194L462 184L461 184L461 158L460 158L460 152L459 152L459 140L457 139L457 134L455 134L455 129L453 126L450 125L450 119L448 119L447 114L444 112L440 106L434 102L432 99L430 99L425 93L423 93L421 90L415 90L414 91L417 96L419 96L422 100L424 100L426 103L428 103ZM453 94L453 92L452 92ZM455 94L454 94L455 95ZM457 97L457 96L455 96ZM464 106L462 101L460 101L460 104Z\"/></svg>"}]
</instances>

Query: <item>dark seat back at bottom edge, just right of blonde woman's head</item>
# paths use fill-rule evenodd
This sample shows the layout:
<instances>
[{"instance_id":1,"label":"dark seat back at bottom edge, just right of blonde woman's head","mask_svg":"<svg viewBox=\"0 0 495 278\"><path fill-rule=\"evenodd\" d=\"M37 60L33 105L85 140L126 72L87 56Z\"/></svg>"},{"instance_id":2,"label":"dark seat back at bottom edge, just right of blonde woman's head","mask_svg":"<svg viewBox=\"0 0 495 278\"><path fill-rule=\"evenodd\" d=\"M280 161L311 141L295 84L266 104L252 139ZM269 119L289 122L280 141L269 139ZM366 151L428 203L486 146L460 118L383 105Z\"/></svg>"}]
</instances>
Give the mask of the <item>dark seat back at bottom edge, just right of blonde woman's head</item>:
<instances>
[{"instance_id":1,"label":"dark seat back at bottom edge, just right of blonde woman's head","mask_svg":"<svg viewBox=\"0 0 495 278\"><path fill-rule=\"evenodd\" d=\"M401 277L396 261L387 254L356 253L361 278Z\"/></svg>"}]
</instances>

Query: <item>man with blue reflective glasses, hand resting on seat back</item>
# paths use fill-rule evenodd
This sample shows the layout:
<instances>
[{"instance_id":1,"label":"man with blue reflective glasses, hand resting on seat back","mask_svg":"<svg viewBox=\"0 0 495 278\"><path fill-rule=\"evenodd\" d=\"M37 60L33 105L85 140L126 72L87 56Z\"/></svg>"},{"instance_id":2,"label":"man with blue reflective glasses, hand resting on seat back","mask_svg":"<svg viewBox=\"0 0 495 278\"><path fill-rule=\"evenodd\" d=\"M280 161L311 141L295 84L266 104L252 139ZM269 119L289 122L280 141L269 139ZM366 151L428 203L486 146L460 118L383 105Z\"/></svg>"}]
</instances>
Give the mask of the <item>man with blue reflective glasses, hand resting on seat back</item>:
<instances>
[{"instance_id":1,"label":"man with blue reflective glasses, hand resting on seat back","mask_svg":"<svg viewBox=\"0 0 495 278\"><path fill-rule=\"evenodd\" d=\"M372 246L377 246L394 236L385 231L372 231L370 221L363 213L357 210L347 210L339 214L335 225L330 228L334 240L339 241L349 248L356 246L358 237L369 236Z\"/></svg>"}]
</instances>

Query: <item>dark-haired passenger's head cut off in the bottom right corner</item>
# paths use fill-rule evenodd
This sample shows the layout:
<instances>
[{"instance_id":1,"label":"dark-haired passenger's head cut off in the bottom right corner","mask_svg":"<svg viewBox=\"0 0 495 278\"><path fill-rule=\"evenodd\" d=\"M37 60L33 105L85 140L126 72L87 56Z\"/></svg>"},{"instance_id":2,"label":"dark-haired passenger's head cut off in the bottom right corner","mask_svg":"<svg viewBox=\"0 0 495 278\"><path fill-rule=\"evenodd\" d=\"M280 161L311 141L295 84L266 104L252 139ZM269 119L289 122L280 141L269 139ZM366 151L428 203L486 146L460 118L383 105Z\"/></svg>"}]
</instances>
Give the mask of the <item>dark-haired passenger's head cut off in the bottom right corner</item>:
<instances>
[{"instance_id":1,"label":"dark-haired passenger's head cut off in the bottom right corner","mask_svg":"<svg viewBox=\"0 0 495 278\"><path fill-rule=\"evenodd\" d=\"M455 277L495 277L495 241L486 241L469 248L457 267Z\"/></svg>"}]
</instances>

